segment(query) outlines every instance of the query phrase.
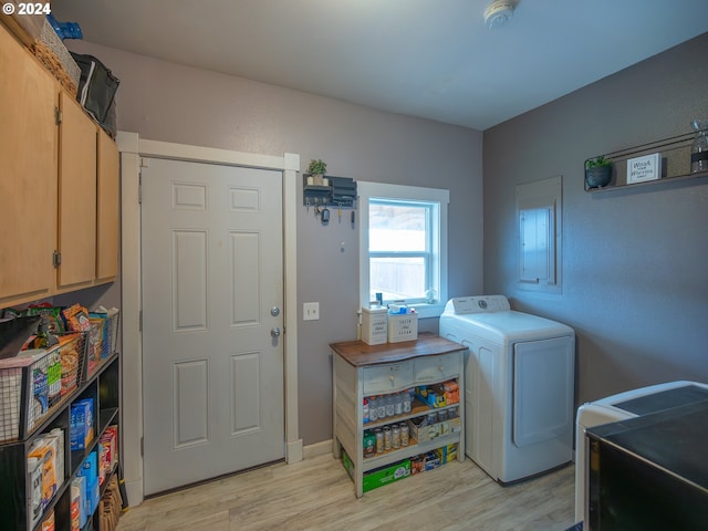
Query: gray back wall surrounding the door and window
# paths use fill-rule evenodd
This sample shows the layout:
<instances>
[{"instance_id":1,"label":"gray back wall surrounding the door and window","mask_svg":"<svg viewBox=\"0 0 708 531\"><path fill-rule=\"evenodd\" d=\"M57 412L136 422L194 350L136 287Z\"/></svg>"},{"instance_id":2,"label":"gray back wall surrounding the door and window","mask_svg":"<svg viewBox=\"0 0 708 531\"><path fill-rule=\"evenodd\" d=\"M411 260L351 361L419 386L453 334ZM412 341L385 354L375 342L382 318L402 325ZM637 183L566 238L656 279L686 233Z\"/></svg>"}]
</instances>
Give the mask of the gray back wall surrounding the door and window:
<instances>
[{"instance_id":1,"label":"gray back wall surrounding the door and window","mask_svg":"<svg viewBox=\"0 0 708 531\"><path fill-rule=\"evenodd\" d=\"M482 288L482 134L382 113L273 85L67 41L100 58L121 79L118 128L143 138L327 162L331 175L355 180L448 188L449 290ZM301 184L300 184L301 187ZM301 202L300 202L301 204ZM313 210L298 217L300 435L305 445L332 437L327 345L356 337L358 222L322 227ZM342 251L341 242L345 242ZM302 321L302 303L320 302L320 321ZM437 332L437 320L421 330Z\"/></svg>"}]
</instances>

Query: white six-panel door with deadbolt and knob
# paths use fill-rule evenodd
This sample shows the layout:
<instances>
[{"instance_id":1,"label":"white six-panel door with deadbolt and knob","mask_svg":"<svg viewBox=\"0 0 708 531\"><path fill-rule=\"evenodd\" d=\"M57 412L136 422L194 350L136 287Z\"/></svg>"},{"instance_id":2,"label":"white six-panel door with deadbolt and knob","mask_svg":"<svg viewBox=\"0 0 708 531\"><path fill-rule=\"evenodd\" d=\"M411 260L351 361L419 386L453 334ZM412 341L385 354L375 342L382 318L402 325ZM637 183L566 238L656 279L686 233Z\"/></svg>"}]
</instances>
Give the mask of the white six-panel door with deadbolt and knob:
<instances>
[{"instance_id":1,"label":"white six-panel door with deadbolt and knob","mask_svg":"<svg viewBox=\"0 0 708 531\"><path fill-rule=\"evenodd\" d=\"M282 174L142 170L145 493L284 457Z\"/></svg>"}]
</instances>

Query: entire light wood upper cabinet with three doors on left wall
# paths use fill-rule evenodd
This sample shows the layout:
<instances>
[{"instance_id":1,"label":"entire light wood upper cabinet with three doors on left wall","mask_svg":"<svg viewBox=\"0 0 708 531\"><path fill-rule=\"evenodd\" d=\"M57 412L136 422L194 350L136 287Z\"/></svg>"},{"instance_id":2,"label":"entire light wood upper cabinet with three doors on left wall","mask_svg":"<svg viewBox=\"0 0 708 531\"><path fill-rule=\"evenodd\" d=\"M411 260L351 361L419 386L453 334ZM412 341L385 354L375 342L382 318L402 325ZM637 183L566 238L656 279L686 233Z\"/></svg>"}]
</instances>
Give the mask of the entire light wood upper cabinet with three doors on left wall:
<instances>
[{"instance_id":1,"label":"entire light wood upper cabinet with three doors on left wall","mask_svg":"<svg viewBox=\"0 0 708 531\"><path fill-rule=\"evenodd\" d=\"M0 24L0 308L112 282L115 143Z\"/></svg>"}]
</instances>

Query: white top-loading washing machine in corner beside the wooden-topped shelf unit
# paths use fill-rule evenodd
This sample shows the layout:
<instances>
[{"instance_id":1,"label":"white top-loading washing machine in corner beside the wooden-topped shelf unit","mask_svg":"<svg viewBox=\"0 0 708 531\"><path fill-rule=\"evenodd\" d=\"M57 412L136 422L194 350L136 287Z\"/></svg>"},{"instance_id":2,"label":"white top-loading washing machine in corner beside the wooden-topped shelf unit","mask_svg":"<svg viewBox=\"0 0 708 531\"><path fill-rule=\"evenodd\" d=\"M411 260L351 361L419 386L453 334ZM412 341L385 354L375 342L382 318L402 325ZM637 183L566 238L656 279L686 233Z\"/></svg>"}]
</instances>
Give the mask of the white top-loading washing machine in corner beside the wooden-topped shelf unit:
<instances>
[{"instance_id":1,"label":"white top-loading washing machine in corner beside the wooden-topped shelf unit","mask_svg":"<svg viewBox=\"0 0 708 531\"><path fill-rule=\"evenodd\" d=\"M573 459L575 333L503 295L448 301L439 334L469 348L466 452L504 485Z\"/></svg>"}]
</instances>

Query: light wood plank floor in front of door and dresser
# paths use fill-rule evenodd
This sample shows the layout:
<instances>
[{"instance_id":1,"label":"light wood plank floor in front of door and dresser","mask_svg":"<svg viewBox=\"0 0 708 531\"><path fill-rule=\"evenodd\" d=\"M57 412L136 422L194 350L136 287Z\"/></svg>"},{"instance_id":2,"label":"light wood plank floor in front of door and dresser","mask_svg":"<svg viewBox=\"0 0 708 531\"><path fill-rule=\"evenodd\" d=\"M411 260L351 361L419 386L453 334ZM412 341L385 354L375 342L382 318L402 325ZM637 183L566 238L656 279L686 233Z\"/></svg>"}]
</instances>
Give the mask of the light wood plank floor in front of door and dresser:
<instances>
[{"instance_id":1,"label":"light wood plank floor in front of door and dresser","mask_svg":"<svg viewBox=\"0 0 708 531\"><path fill-rule=\"evenodd\" d=\"M117 531L564 531L573 524L574 467L500 487L454 461L369 492L332 455L277 464L146 500Z\"/></svg>"}]
</instances>

